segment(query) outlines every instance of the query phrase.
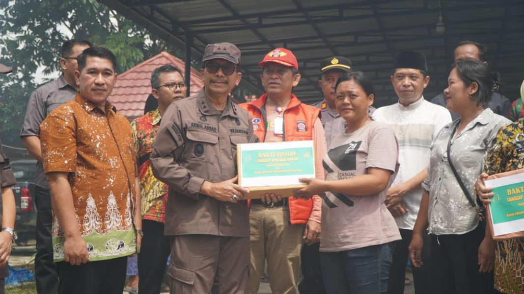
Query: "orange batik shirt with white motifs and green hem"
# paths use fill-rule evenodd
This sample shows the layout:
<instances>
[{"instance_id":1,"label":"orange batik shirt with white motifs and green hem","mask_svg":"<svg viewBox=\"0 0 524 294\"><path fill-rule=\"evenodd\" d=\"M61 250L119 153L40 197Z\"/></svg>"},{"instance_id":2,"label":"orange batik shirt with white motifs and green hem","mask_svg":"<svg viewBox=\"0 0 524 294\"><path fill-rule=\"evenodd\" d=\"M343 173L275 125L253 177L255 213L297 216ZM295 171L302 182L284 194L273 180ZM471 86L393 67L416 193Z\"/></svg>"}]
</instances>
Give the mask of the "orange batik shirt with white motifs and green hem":
<instances>
[{"instance_id":1,"label":"orange batik shirt with white motifs and green hem","mask_svg":"<svg viewBox=\"0 0 524 294\"><path fill-rule=\"evenodd\" d=\"M136 163L127 119L110 103L104 113L77 94L43 121L40 140L46 174L69 174L78 229L90 261L136 253ZM56 215L51 235L54 261L63 261L65 237Z\"/></svg>"}]
</instances>

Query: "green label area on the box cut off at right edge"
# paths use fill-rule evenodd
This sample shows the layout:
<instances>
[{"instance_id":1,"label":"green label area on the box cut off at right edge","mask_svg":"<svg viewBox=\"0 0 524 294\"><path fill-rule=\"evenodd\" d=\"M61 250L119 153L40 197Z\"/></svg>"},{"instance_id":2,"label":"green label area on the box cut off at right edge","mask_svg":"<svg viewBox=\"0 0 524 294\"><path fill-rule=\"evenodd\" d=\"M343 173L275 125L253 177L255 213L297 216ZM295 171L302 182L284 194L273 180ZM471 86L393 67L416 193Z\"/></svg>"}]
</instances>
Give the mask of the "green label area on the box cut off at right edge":
<instances>
[{"instance_id":1,"label":"green label area on the box cut off at right edge","mask_svg":"<svg viewBox=\"0 0 524 294\"><path fill-rule=\"evenodd\" d=\"M489 207L493 223L524 219L524 185L515 183L493 189Z\"/></svg>"}]
</instances>

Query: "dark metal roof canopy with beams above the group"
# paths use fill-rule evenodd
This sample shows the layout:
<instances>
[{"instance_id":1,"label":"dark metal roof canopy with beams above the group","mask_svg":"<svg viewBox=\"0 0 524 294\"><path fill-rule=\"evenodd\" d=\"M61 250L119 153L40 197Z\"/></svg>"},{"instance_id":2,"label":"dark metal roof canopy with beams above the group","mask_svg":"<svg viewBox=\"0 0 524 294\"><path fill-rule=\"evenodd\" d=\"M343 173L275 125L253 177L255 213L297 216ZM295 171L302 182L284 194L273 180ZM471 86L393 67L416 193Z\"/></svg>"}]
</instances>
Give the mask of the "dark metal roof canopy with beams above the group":
<instances>
[{"instance_id":1,"label":"dark metal roof canopy with beams above the group","mask_svg":"<svg viewBox=\"0 0 524 294\"><path fill-rule=\"evenodd\" d=\"M160 38L202 58L206 44L231 42L242 51L242 86L262 93L257 63L277 47L293 51L302 80L294 93L322 99L319 63L346 56L375 85L375 106L397 101L389 81L402 50L427 56L431 99L447 86L453 48L487 44L487 61L501 74L503 94L516 99L524 79L524 1L521 0L99 0ZM442 9L445 32L436 32ZM186 62L189 64L189 62Z\"/></svg>"}]
</instances>

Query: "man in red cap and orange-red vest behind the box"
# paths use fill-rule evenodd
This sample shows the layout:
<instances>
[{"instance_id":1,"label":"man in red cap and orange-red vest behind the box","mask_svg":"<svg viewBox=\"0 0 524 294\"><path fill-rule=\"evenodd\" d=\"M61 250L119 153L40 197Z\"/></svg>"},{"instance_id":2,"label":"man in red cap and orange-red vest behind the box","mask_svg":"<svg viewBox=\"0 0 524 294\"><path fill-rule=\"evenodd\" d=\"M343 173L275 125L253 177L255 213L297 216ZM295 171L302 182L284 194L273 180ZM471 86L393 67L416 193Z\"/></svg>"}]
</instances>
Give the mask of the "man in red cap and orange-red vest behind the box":
<instances>
[{"instance_id":1,"label":"man in red cap and orange-red vest behind the box","mask_svg":"<svg viewBox=\"0 0 524 294\"><path fill-rule=\"evenodd\" d=\"M300 81L298 62L285 48L271 50L258 65L266 94L241 104L253 122L261 142L313 140L315 174L324 178L322 159L325 136L320 109L302 104L292 94ZM250 292L258 291L267 259L269 282L274 293L298 293L300 248L320 240L321 198L294 199L291 195L266 194L250 206L251 275Z\"/></svg>"}]
</instances>

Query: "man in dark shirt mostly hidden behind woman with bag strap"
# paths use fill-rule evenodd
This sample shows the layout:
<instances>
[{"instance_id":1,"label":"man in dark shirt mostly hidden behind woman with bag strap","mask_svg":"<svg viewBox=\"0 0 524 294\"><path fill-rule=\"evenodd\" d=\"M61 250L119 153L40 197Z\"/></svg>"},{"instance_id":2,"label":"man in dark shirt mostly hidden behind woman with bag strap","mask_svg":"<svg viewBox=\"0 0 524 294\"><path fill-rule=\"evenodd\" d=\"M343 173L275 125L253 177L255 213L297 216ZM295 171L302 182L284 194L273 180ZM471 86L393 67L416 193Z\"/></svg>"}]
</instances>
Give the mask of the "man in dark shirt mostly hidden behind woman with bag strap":
<instances>
[{"instance_id":1,"label":"man in dark shirt mostly hidden behind woman with bag strap","mask_svg":"<svg viewBox=\"0 0 524 294\"><path fill-rule=\"evenodd\" d=\"M455 50L453 51L453 60L455 62L466 59L480 60L487 65L488 63L485 61L487 50L488 48L484 44L474 41L462 41L455 47ZM492 97L489 100L487 107L498 115L508 117L509 109L511 108L511 101L497 91L498 86L492 93ZM440 93L439 95L433 97L430 102L446 107L446 95L444 95L444 93ZM452 120L459 118L459 115L455 112L450 111L450 113Z\"/></svg>"}]
</instances>

